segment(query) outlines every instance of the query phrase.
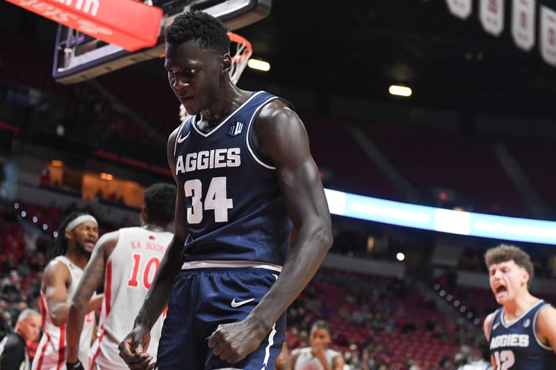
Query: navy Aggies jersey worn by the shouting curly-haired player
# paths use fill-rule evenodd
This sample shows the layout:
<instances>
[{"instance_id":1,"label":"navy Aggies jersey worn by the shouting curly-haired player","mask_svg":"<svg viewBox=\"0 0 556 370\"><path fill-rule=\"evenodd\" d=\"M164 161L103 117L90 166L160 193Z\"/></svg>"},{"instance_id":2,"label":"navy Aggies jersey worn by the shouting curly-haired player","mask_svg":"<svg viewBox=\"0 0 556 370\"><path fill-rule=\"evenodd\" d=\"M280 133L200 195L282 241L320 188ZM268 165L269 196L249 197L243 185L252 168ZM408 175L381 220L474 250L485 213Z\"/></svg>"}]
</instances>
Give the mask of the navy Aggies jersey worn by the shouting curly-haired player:
<instances>
[{"instance_id":1,"label":"navy Aggies jersey worn by the shouting curly-haired player","mask_svg":"<svg viewBox=\"0 0 556 370\"><path fill-rule=\"evenodd\" d=\"M498 370L556 369L556 354L537 337L537 314L548 305L542 299L512 324L504 321L499 308L491 323L490 348Z\"/></svg>"}]
</instances>

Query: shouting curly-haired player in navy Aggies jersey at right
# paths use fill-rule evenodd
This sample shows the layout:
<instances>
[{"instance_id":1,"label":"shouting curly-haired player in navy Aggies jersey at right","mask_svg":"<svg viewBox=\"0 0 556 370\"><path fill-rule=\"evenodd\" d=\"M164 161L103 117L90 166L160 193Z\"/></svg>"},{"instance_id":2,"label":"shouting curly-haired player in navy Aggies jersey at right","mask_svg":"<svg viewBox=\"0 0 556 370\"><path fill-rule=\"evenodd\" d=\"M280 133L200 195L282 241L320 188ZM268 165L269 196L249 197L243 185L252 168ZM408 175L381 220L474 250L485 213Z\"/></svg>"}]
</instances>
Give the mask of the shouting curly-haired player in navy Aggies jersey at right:
<instances>
[{"instance_id":1,"label":"shouting curly-haired player in navy Aggies jersey at right","mask_svg":"<svg viewBox=\"0 0 556 370\"><path fill-rule=\"evenodd\" d=\"M484 320L491 361L498 370L556 369L556 309L529 292L530 256L516 246L500 245L484 255L496 302Z\"/></svg>"}]
</instances>

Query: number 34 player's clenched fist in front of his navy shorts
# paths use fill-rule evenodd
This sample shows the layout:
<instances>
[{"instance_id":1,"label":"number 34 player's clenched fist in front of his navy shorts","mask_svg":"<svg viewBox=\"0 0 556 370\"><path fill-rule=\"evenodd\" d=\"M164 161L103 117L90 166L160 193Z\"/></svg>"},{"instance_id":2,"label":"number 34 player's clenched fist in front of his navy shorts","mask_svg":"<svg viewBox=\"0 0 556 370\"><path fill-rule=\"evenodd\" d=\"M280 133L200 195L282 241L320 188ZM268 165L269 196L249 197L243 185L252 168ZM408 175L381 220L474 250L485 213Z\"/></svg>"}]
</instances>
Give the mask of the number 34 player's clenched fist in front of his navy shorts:
<instances>
[{"instance_id":1,"label":"number 34 player's clenched fist in front of his navy shorts","mask_svg":"<svg viewBox=\"0 0 556 370\"><path fill-rule=\"evenodd\" d=\"M208 337L208 347L213 348L215 356L233 364L255 351L267 333L261 326L249 323L248 319L221 324Z\"/></svg>"}]
</instances>

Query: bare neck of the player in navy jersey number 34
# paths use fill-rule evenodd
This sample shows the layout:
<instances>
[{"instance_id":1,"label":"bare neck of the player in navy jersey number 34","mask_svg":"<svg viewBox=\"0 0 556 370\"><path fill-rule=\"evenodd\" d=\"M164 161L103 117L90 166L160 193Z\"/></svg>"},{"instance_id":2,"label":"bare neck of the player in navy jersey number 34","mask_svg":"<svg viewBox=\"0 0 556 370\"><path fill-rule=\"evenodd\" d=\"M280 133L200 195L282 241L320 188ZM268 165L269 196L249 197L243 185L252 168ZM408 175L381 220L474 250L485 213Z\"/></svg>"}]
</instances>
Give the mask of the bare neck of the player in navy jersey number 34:
<instances>
[{"instance_id":1,"label":"bare neck of the player in navy jersey number 34","mask_svg":"<svg viewBox=\"0 0 556 370\"><path fill-rule=\"evenodd\" d=\"M199 128L210 131L215 126L218 126L223 119L243 104L249 95L250 92L240 90L230 82L226 88L220 90L213 106L202 110L201 119L197 121Z\"/></svg>"}]
</instances>

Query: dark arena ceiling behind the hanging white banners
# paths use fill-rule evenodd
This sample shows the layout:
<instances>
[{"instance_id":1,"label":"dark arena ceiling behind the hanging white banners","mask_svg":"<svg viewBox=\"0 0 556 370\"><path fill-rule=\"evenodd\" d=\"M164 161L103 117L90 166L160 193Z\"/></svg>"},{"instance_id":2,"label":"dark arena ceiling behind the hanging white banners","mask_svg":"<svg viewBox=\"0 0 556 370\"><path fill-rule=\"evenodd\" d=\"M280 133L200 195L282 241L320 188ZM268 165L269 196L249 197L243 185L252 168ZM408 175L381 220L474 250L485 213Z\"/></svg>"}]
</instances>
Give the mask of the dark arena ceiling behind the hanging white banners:
<instances>
[{"instance_id":1,"label":"dark arena ceiling behind the hanging white banners","mask_svg":"<svg viewBox=\"0 0 556 370\"><path fill-rule=\"evenodd\" d=\"M267 19L238 32L277 82L369 99L391 99L388 86L405 83L418 105L553 115L556 68L538 42L516 47L506 3L500 37L483 30L476 0L466 21L445 0L275 0Z\"/></svg>"}]
</instances>

